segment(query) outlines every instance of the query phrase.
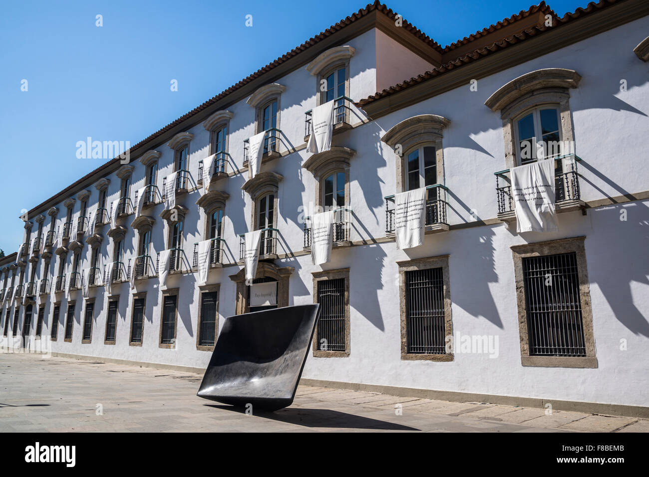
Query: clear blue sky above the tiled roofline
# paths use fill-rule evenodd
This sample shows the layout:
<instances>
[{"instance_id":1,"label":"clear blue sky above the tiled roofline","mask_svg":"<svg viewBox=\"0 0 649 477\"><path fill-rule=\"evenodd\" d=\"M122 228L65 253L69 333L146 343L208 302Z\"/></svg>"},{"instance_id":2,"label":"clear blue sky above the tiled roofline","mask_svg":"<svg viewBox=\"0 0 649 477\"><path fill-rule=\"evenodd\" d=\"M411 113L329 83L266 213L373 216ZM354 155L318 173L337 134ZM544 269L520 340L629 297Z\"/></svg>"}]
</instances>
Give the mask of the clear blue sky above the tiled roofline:
<instances>
[{"instance_id":1,"label":"clear blue sky above the tiled roofline","mask_svg":"<svg viewBox=\"0 0 649 477\"><path fill-rule=\"evenodd\" d=\"M549 3L560 16L587 5L585 0ZM77 141L90 136L134 145L365 5L349 0L6 2L0 17L0 248L6 254L18 250L22 209L105 162L77 159ZM532 3L398 0L386 5L445 46ZM97 15L102 27L96 26ZM247 15L252 27L245 26ZM171 91L172 79L178 91ZM27 91L21 91L23 80Z\"/></svg>"}]
</instances>

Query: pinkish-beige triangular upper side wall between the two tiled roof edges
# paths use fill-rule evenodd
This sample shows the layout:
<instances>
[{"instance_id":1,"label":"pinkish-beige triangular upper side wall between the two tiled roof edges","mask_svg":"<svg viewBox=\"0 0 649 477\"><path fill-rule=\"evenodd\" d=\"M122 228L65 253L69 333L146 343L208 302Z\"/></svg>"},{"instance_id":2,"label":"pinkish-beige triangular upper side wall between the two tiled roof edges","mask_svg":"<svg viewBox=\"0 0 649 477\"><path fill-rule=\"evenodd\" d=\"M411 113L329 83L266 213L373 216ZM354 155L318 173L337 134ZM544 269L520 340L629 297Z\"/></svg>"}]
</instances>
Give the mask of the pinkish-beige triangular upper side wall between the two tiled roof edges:
<instances>
[{"instance_id":1,"label":"pinkish-beige triangular upper side wall between the two tiled roof edges","mask_svg":"<svg viewBox=\"0 0 649 477\"><path fill-rule=\"evenodd\" d=\"M374 29L374 32L376 32L376 91L383 91L433 69L433 64L381 30Z\"/></svg>"}]
</instances>

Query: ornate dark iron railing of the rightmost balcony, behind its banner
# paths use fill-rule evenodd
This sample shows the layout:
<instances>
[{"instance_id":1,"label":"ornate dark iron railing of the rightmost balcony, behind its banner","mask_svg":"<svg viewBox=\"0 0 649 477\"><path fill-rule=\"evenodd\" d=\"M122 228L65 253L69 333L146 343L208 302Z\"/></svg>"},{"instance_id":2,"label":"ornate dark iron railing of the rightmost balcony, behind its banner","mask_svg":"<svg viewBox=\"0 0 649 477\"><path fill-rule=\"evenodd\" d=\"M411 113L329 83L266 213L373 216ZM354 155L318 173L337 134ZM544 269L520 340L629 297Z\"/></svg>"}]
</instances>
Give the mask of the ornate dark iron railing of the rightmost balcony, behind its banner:
<instances>
[{"instance_id":1,"label":"ornate dark iron railing of the rightmost balcony, behind its banner","mask_svg":"<svg viewBox=\"0 0 649 477\"><path fill-rule=\"evenodd\" d=\"M567 170L564 172L564 160L572 157L574 160L567 163ZM575 154L566 154L554 158L554 200L565 202L567 200L580 200L579 174L577 163L582 158ZM514 210L513 197L511 195L511 178L509 169L494 172L496 176L496 200L498 201L498 213L508 213Z\"/></svg>"}]
</instances>

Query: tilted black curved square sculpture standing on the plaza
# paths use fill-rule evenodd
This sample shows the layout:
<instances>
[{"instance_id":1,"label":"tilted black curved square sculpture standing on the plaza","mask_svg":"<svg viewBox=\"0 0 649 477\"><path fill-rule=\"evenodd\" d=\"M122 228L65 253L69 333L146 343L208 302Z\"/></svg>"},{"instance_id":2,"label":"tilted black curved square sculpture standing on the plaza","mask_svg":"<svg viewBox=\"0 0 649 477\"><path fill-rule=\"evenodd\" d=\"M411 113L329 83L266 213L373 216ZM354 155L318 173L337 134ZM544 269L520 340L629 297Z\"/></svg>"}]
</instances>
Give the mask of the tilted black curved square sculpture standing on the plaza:
<instances>
[{"instance_id":1,"label":"tilted black curved square sculpture standing on the plaza","mask_svg":"<svg viewBox=\"0 0 649 477\"><path fill-rule=\"evenodd\" d=\"M319 306L275 308L225 319L197 395L275 411L290 406Z\"/></svg>"}]
</instances>

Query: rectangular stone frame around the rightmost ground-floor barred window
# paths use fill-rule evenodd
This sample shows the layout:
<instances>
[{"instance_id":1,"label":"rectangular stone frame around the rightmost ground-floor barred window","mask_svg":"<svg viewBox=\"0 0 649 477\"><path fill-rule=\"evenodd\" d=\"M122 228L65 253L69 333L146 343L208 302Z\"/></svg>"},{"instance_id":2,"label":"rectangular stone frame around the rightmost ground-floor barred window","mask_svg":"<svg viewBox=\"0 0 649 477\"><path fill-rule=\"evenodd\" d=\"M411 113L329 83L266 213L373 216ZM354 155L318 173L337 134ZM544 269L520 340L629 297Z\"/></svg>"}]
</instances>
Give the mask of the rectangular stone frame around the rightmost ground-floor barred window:
<instances>
[{"instance_id":1,"label":"rectangular stone frame around the rightmost ground-floor barred window","mask_svg":"<svg viewBox=\"0 0 649 477\"><path fill-rule=\"evenodd\" d=\"M511 246L511 255L516 280L516 302L519 312L520 364L541 367L598 367L593 336L593 310L588 281L585 236L559 238L544 242L533 242ZM527 314L525 310L525 288L522 272L522 259L541 257L557 253L576 253L579 277L579 294L582 303L583 337L586 356L530 356Z\"/></svg>"}]
</instances>

